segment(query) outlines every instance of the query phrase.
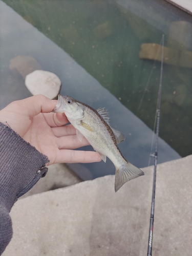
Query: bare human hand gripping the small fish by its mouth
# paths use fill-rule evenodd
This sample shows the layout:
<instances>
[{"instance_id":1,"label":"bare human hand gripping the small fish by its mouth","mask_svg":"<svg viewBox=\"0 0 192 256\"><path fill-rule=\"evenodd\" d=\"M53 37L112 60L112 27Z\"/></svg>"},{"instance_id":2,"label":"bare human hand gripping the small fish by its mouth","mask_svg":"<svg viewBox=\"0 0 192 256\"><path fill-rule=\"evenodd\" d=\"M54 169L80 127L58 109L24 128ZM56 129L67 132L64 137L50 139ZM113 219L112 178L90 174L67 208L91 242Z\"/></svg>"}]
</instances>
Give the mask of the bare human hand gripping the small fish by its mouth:
<instances>
[{"instance_id":1,"label":"bare human hand gripping the small fish by its mouth","mask_svg":"<svg viewBox=\"0 0 192 256\"><path fill-rule=\"evenodd\" d=\"M0 122L8 124L12 130L46 155L53 163L92 163L101 161L92 151L74 151L89 145L86 138L80 142L75 128L63 113L50 113L57 100L43 95L35 95L10 103L0 111Z\"/></svg>"}]
</instances>

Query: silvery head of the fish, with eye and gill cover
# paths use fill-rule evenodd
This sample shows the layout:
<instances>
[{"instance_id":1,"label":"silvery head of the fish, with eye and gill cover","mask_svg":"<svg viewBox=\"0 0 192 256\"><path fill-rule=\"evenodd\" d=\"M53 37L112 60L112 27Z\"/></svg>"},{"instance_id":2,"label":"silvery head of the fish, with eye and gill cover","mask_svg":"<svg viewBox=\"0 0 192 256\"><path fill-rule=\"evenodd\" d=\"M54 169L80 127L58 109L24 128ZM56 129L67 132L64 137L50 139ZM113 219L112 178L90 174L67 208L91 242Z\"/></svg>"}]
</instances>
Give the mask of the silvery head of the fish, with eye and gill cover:
<instances>
[{"instance_id":1,"label":"silvery head of the fish, with eye and gill cover","mask_svg":"<svg viewBox=\"0 0 192 256\"><path fill-rule=\"evenodd\" d=\"M61 95L58 95L57 104L53 112L65 113L68 118L73 120L80 120L84 115L82 106L75 99Z\"/></svg>"}]
</instances>

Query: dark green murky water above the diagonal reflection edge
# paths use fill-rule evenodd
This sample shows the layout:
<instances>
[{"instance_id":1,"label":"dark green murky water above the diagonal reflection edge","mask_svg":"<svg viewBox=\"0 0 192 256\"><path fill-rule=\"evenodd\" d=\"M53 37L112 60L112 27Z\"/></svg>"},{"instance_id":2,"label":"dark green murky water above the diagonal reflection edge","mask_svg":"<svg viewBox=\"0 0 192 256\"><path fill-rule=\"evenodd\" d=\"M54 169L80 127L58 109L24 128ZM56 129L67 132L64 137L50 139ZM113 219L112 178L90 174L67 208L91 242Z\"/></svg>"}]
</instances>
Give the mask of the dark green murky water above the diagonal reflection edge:
<instances>
[{"instance_id":1,"label":"dark green murky water above the diagonal reflection edge","mask_svg":"<svg viewBox=\"0 0 192 256\"><path fill-rule=\"evenodd\" d=\"M160 62L154 64L153 45L147 48L151 60L140 58L139 52L142 44L160 44L164 33L160 137L182 157L192 154L191 15L165 1L3 2L69 53L152 130Z\"/></svg>"}]
</instances>

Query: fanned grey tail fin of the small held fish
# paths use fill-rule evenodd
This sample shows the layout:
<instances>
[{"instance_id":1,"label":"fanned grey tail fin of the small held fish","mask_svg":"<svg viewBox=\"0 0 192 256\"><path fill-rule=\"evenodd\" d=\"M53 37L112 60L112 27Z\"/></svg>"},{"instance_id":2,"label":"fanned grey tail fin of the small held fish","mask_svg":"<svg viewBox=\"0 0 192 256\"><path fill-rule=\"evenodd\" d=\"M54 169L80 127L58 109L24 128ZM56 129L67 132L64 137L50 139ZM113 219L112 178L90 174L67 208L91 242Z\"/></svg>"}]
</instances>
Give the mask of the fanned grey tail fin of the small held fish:
<instances>
[{"instance_id":1,"label":"fanned grey tail fin of the small held fish","mask_svg":"<svg viewBox=\"0 0 192 256\"><path fill-rule=\"evenodd\" d=\"M121 168L116 168L115 173L115 192L122 187L122 185L132 179L144 175L143 171L130 162L126 162Z\"/></svg>"}]
</instances>

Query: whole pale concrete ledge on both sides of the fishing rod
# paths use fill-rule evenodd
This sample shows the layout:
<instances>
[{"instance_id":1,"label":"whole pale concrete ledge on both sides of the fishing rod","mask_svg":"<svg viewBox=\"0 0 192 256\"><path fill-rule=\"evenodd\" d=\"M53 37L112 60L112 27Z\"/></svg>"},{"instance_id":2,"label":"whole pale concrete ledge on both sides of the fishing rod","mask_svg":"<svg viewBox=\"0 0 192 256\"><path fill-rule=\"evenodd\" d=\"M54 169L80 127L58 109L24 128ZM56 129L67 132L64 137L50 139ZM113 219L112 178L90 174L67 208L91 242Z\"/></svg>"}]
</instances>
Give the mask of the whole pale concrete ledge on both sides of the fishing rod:
<instances>
[{"instance_id":1,"label":"whole pale concrete ledge on both sides of the fishing rod","mask_svg":"<svg viewBox=\"0 0 192 256\"><path fill-rule=\"evenodd\" d=\"M157 166L153 255L191 255L192 155ZM114 192L105 176L18 200L3 256L146 255L153 166Z\"/></svg>"}]
</instances>

